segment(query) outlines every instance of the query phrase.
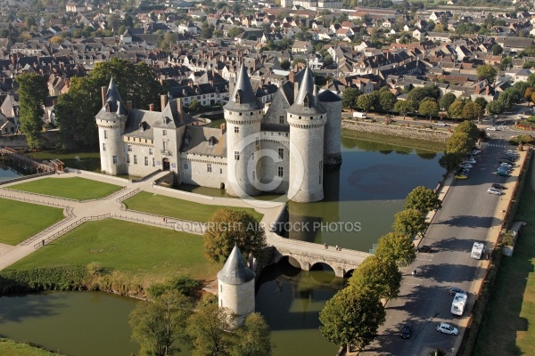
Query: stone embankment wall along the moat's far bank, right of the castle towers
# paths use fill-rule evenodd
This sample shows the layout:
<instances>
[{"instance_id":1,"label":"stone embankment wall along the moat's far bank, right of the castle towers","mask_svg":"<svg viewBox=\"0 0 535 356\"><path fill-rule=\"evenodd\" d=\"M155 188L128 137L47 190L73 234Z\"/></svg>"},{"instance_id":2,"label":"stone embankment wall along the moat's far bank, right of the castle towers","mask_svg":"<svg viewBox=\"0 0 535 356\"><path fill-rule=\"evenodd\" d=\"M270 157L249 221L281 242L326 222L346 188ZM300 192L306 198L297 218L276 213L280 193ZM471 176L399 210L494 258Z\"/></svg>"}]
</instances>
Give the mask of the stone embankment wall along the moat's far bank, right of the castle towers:
<instances>
[{"instance_id":1,"label":"stone embankment wall along the moat's far bank, right of the castle towers","mask_svg":"<svg viewBox=\"0 0 535 356\"><path fill-rule=\"evenodd\" d=\"M410 125L404 121L403 124L372 123L356 120L342 120L342 128L372 134L388 134L391 136L407 137L408 139L426 140L432 142L446 143L451 133L449 131L437 130L434 128L424 128L423 126Z\"/></svg>"}]
</instances>

